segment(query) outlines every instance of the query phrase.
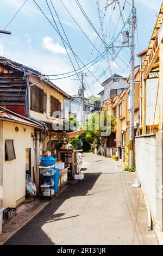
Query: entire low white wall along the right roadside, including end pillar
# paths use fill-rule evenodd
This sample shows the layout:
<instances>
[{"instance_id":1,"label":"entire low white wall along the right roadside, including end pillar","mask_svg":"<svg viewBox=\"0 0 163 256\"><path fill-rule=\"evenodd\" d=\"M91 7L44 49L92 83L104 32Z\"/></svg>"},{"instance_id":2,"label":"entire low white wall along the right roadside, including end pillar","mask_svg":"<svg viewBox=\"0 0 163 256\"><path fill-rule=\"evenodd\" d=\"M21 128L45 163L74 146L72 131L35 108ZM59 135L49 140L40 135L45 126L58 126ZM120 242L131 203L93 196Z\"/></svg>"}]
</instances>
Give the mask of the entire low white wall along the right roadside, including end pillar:
<instances>
[{"instance_id":1,"label":"entire low white wall along the right roadside, including end pillar","mask_svg":"<svg viewBox=\"0 0 163 256\"><path fill-rule=\"evenodd\" d=\"M157 230L162 230L163 132L135 138L136 175L145 192Z\"/></svg>"}]
</instances>

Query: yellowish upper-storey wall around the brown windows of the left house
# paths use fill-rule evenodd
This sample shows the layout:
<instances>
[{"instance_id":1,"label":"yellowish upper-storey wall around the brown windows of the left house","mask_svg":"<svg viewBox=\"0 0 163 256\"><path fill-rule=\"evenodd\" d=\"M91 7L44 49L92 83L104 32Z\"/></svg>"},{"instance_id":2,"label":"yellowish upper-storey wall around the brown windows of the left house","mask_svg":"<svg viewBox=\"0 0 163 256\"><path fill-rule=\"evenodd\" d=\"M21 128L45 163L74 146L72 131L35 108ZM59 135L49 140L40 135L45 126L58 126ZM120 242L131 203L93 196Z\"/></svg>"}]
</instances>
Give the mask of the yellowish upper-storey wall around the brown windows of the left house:
<instances>
[{"instance_id":1,"label":"yellowish upper-storey wall around the brown windows of the left house","mask_svg":"<svg viewBox=\"0 0 163 256\"><path fill-rule=\"evenodd\" d=\"M30 83L37 82L37 78L30 76ZM35 86L42 89L47 94L47 111L46 113L39 113L36 111L30 110L30 116L36 119L39 119L41 121L51 121L54 120L53 117L50 116L51 112L51 96L55 97L55 99L59 100L61 102L61 109L63 109L63 102L64 102L64 96L54 90L52 87L48 86L47 84L37 83Z\"/></svg>"}]
</instances>

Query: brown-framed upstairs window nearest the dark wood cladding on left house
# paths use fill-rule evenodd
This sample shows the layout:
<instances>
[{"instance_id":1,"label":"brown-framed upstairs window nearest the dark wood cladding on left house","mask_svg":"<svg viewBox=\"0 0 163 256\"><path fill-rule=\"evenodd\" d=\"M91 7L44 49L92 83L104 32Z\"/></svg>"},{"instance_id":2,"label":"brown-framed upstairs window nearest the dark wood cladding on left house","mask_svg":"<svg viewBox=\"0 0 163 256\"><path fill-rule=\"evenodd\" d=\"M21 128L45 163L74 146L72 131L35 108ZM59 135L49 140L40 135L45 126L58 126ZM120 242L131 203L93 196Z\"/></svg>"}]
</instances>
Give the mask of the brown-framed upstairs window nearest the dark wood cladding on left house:
<instances>
[{"instance_id":1,"label":"brown-framed upstairs window nearest the dark wood cladding on left house","mask_svg":"<svg viewBox=\"0 0 163 256\"><path fill-rule=\"evenodd\" d=\"M36 112L46 111L46 94L39 87L32 86L30 88L30 109Z\"/></svg>"}]
</instances>

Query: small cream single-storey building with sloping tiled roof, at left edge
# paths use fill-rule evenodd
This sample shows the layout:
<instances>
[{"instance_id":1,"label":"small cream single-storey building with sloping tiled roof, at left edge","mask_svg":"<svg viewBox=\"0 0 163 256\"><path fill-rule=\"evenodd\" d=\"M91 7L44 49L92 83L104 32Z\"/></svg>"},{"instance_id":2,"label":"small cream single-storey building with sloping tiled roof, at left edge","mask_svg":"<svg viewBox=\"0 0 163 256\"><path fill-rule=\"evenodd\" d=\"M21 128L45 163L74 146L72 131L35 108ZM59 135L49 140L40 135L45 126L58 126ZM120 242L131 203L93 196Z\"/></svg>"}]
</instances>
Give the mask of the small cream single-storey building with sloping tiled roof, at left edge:
<instances>
[{"instance_id":1,"label":"small cream single-storey building with sloping tiled roof, at left edge","mask_svg":"<svg viewBox=\"0 0 163 256\"><path fill-rule=\"evenodd\" d=\"M26 197L26 174L36 166L35 132L43 125L0 107L0 206L16 207Z\"/></svg>"}]
</instances>

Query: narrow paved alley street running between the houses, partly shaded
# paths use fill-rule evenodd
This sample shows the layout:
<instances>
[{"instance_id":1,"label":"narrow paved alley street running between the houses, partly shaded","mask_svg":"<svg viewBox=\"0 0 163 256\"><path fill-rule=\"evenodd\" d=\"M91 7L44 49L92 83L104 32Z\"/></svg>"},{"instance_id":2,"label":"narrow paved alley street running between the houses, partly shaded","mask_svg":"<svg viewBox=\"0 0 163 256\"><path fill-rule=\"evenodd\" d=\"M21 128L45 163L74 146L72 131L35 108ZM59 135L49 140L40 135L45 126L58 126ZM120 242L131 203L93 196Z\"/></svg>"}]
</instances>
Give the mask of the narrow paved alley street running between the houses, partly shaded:
<instances>
[{"instance_id":1,"label":"narrow paved alley street running between the houses, partly shaded","mask_svg":"<svg viewBox=\"0 0 163 256\"><path fill-rule=\"evenodd\" d=\"M84 180L70 185L5 245L158 245L148 231L135 174L115 171L114 162L83 154Z\"/></svg>"}]
</instances>

